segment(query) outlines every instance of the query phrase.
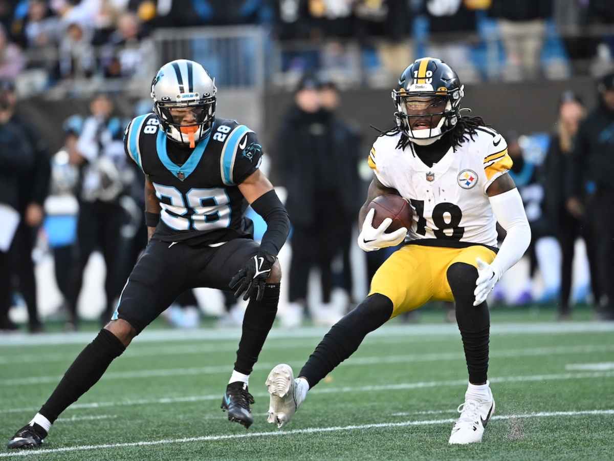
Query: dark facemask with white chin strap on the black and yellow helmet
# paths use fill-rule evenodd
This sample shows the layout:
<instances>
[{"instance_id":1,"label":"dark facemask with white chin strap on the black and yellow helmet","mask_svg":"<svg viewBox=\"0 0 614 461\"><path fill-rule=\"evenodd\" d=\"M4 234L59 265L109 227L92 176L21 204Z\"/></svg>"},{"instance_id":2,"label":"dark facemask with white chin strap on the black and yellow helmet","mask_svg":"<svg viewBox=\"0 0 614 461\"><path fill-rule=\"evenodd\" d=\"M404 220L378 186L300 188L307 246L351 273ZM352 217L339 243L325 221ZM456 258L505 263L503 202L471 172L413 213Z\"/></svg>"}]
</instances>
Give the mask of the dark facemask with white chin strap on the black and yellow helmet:
<instances>
[{"instance_id":1,"label":"dark facemask with white chin strap on the black and yellow helmet","mask_svg":"<svg viewBox=\"0 0 614 461\"><path fill-rule=\"evenodd\" d=\"M397 105L394 113L397 125L413 143L421 146L432 144L458 122L463 89L450 93L443 90L392 91Z\"/></svg>"}]
</instances>

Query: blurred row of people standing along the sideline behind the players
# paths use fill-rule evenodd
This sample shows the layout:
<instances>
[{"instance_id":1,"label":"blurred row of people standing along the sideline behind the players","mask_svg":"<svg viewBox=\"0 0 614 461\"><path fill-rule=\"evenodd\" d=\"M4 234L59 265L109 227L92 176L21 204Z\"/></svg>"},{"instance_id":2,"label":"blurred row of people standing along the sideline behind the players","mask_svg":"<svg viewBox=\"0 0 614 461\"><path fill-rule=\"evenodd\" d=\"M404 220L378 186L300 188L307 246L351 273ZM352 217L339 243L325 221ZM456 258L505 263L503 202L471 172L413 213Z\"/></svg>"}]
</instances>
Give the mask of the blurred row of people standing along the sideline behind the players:
<instances>
[{"instance_id":1,"label":"blurred row of people standing along the sideline behind the players","mask_svg":"<svg viewBox=\"0 0 614 461\"><path fill-rule=\"evenodd\" d=\"M505 133L514 160L510 174L523 197L533 242L526 255L526 287L506 293L504 277L492 305L555 303L559 319L567 320L575 302L589 302L599 318L614 320L614 73L596 86L594 108L585 107L573 92L562 93L558 108L552 108L553 132ZM286 187L293 226L290 261L284 266L289 291L280 310L285 326L306 318L334 323L353 304L356 281L368 283L394 251L360 252L363 264L351 261L356 211L370 180L360 173L368 171L361 152L367 133L340 118L339 103L332 81L306 74L274 141L285 152L275 168ZM96 95L88 114L64 120L63 146L50 152L19 108L14 82L0 80L0 329L17 328L9 318L15 304L25 304L29 331L42 329L33 261L37 250L53 256L63 299L56 315L69 330L79 326L77 305L90 256L102 254L106 301L100 320L107 321L147 242L143 178L123 149L128 119L117 116L111 98ZM149 101L143 101L131 115L149 110ZM262 226L263 221L256 222L256 237ZM585 248L585 262L574 264L578 245ZM316 299L309 296L312 272L319 274ZM510 277L518 278L518 272ZM244 306L229 293L223 299L220 325L240 325ZM189 291L165 316L174 325L196 326L203 307Z\"/></svg>"}]
</instances>

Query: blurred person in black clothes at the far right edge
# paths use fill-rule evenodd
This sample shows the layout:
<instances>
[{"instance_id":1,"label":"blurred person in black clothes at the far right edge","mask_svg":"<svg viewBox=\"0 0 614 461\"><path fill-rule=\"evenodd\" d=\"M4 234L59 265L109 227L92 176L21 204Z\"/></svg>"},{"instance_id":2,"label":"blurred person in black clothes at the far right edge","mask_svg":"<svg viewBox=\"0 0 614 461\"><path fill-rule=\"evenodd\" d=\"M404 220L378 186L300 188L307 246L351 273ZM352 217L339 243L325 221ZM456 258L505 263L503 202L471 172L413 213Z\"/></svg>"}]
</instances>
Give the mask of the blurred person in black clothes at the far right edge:
<instances>
[{"instance_id":1,"label":"blurred person in black clothes at the far right edge","mask_svg":"<svg viewBox=\"0 0 614 461\"><path fill-rule=\"evenodd\" d=\"M602 288L599 317L614 320L614 72L597 83L599 103L580 124L567 184L567 210L577 219L586 216L594 226L597 274Z\"/></svg>"}]
</instances>

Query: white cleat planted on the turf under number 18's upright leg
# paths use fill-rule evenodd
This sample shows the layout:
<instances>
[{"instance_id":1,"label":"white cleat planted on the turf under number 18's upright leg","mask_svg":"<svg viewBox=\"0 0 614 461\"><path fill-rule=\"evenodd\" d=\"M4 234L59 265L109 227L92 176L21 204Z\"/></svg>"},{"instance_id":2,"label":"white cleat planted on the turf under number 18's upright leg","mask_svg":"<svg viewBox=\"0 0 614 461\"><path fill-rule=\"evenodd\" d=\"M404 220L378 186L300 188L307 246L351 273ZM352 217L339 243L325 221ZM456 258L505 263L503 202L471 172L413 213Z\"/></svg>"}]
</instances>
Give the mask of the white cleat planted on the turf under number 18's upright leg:
<instances>
[{"instance_id":1,"label":"white cleat planted on the turf under number 18's upright leg","mask_svg":"<svg viewBox=\"0 0 614 461\"><path fill-rule=\"evenodd\" d=\"M482 441L484 427L495 412L495 400L488 389L486 399L465 394L465 403L458 408L461 417L452 428L449 444L468 444Z\"/></svg>"}]
</instances>

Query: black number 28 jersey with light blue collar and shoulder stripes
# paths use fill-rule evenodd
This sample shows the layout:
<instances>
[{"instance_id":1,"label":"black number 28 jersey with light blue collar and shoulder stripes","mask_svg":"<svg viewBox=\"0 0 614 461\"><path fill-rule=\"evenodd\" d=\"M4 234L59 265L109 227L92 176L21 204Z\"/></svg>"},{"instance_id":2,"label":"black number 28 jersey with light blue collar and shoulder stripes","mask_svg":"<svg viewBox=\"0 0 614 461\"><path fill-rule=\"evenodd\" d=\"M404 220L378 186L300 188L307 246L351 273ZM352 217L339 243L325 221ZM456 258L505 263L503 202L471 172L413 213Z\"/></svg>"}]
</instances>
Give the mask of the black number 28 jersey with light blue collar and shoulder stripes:
<instances>
[{"instance_id":1,"label":"black number 28 jersey with light blue collar and shoulder stripes","mask_svg":"<svg viewBox=\"0 0 614 461\"><path fill-rule=\"evenodd\" d=\"M164 242L228 242L249 237L247 202L238 189L262 160L252 130L236 120L216 119L194 149L168 140L155 114L134 118L124 135L126 154L153 183L160 200L154 237Z\"/></svg>"}]
</instances>

